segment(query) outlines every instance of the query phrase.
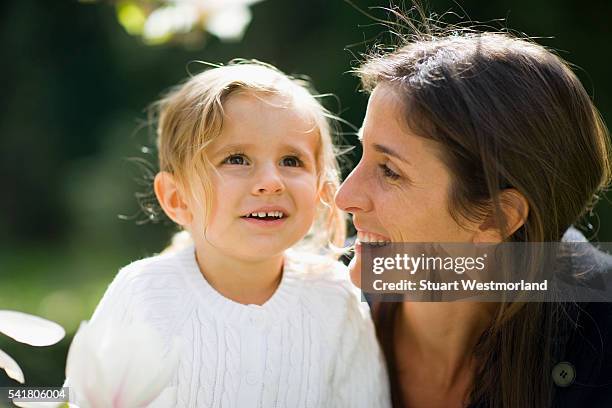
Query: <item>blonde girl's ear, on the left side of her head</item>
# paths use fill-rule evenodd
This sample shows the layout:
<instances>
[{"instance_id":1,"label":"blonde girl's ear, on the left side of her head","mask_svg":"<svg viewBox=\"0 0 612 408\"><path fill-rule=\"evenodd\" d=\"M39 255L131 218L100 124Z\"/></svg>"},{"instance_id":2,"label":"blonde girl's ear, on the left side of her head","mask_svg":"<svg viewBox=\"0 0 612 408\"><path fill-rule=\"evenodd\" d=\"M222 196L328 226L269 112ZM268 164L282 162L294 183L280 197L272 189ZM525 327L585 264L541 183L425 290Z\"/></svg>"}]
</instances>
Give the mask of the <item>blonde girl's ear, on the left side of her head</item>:
<instances>
[{"instance_id":1,"label":"blonde girl's ear, on the left side of her head","mask_svg":"<svg viewBox=\"0 0 612 408\"><path fill-rule=\"evenodd\" d=\"M160 171L155 176L153 187L157 201L168 218L183 227L189 225L192 214L174 176L166 171Z\"/></svg>"}]
</instances>

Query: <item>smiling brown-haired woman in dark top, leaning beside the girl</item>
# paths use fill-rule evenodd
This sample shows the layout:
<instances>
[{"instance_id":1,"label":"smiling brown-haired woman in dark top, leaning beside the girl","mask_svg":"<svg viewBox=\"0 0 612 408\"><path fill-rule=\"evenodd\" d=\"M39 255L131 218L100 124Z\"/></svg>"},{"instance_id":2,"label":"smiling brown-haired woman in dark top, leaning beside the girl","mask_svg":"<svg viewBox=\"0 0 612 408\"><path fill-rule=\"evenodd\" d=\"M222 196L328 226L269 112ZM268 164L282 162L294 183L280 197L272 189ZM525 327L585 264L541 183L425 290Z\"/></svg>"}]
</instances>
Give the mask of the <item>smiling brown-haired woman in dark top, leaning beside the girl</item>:
<instances>
[{"instance_id":1,"label":"smiling brown-haired woman in dark top, leaning beside the girl","mask_svg":"<svg viewBox=\"0 0 612 408\"><path fill-rule=\"evenodd\" d=\"M596 108L531 41L421 35L357 72L363 157L336 202L361 241L558 242L610 181ZM359 284L359 248L351 268ZM396 407L612 406L609 304L373 310Z\"/></svg>"}]
</instances>

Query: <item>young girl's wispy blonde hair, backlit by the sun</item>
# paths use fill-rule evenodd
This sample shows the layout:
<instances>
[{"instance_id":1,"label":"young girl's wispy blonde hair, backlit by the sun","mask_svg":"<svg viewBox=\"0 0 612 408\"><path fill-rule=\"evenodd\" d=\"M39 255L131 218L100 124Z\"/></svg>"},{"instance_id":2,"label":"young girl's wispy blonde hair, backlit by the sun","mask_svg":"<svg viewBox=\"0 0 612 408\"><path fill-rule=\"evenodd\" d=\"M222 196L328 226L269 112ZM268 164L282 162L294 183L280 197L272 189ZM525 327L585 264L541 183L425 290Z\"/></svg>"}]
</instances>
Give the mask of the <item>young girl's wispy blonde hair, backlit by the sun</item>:
<instances>
[{"instance_id":1,"label":"young girl's wispy blonde hair, backlit by the sun","mask_svg":"<svg viewBox=\"0 0 612 408\"><path fill-rule=\"evenodd\" d=\"M333 200L340 184L332 141L336 118L309 89L307 81L254 60L234 60L189 78L152 105L151 113L157 119L159 170L171 173L185 196L204 208L208 223L214 194L209 175L215 168L207 158L206 148L221 133L223 104L238 93L282 96L288 101L283 107L299 106L310 114L319 134L316 170L320 203L304 242L319 248L342 246L346 225ZM176 238L171 247L180 245L181 239Z\"/></svg>"}]
</instances>

